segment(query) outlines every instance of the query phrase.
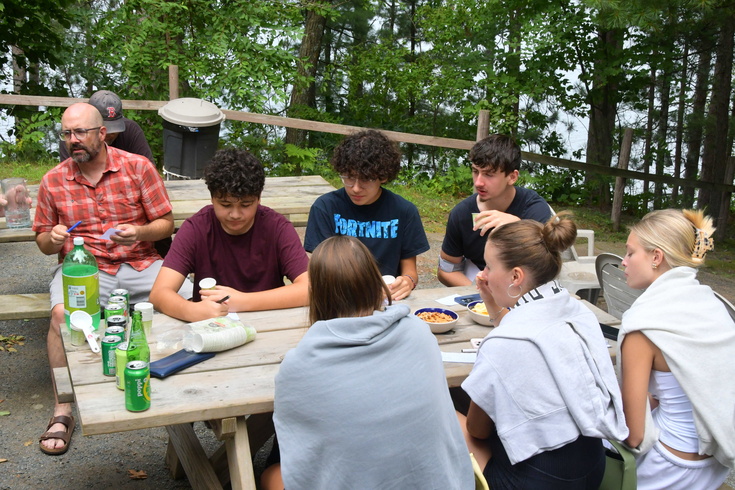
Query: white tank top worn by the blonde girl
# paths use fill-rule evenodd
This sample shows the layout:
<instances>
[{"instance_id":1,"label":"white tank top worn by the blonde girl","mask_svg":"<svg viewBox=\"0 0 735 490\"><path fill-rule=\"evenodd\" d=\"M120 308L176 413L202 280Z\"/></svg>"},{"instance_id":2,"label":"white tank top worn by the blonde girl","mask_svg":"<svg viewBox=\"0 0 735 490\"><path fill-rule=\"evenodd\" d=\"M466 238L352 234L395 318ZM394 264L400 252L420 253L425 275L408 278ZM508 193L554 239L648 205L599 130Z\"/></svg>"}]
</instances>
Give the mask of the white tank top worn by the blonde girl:
<instances>
[{"instance_id":1,"label":"white tank top worn by the blonde girl","mask_svg":"<svg viewBox=\"0 0 735 490\"><path fill-rule=\"evenodd\" d=\"M677 451L697 453L699 439L692 404L674 375L652 371L648 390L659 401L659 406L652 412L653 420L661 430L659 441Z\"/></svg>"}]
</instances>

